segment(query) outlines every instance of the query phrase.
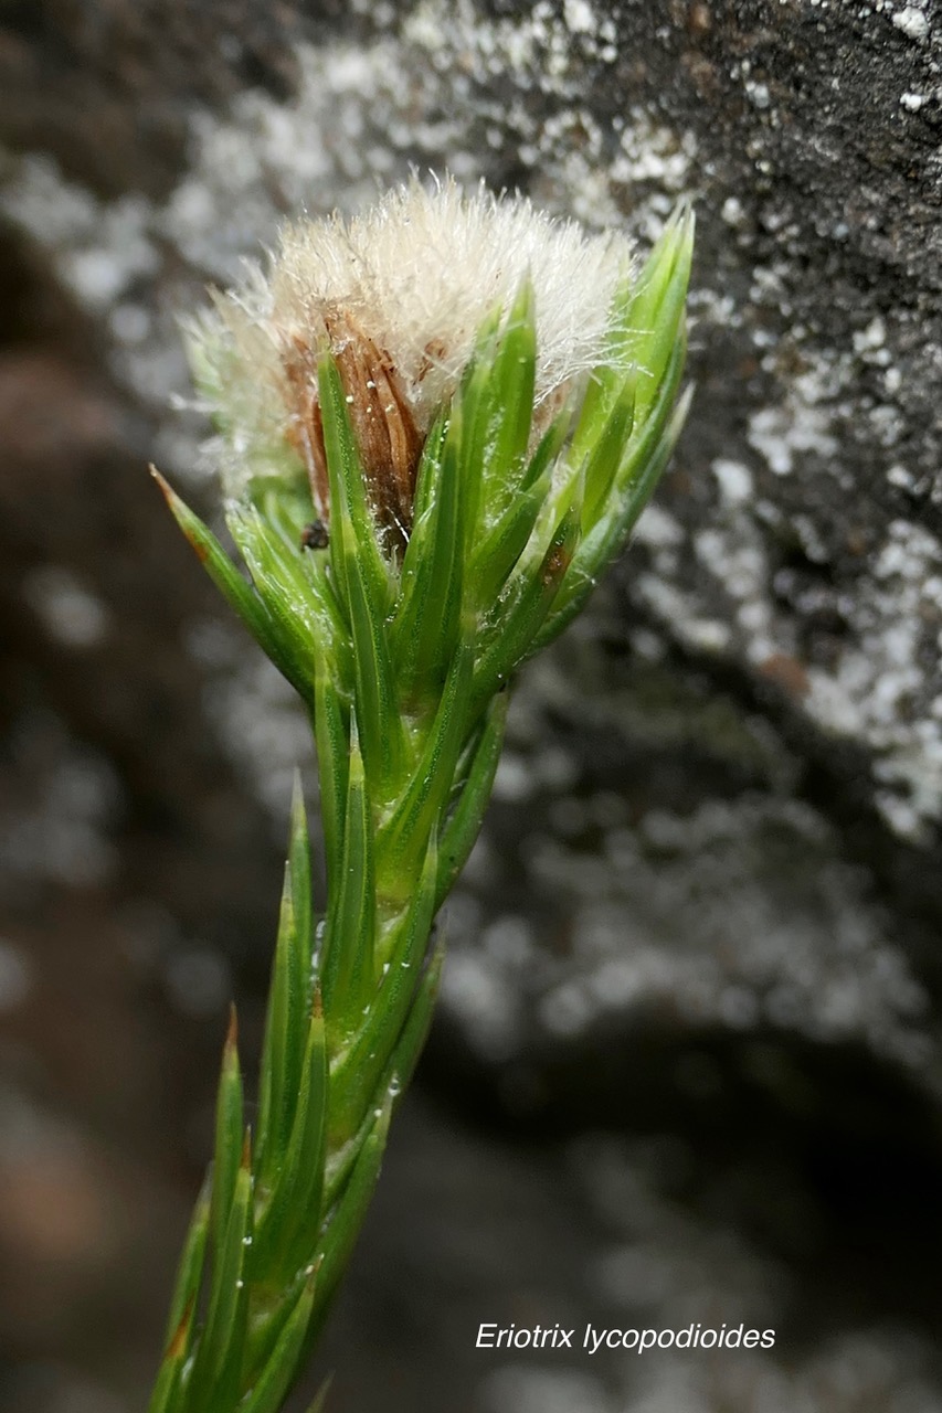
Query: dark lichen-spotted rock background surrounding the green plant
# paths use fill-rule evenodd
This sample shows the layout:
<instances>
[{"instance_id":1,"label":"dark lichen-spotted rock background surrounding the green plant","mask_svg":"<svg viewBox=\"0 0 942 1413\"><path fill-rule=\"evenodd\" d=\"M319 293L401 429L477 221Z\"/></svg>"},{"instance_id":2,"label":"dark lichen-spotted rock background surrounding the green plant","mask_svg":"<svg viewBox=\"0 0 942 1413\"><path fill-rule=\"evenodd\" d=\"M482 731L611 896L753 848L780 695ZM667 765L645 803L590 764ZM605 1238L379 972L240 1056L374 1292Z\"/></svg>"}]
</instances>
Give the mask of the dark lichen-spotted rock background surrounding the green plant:
<instances>
[{"instance_id":1,"label":"dark lichen-spotted rock background surrounding the green plant","mask_svg":"<svg viewBox=\"0 0 942 1413\"><path fill-rule=\"evenodd\" d=\"M673 469L519 684L334 1413L935 1413L942 17L929 0L1 0L0 1406L146 1406L291 694L177 318L419 170L697 208ZM772 1328L481 1351L478 1325ZM298 1400L293 1407L301 1409Z\"/></svg>"}]
</instances>

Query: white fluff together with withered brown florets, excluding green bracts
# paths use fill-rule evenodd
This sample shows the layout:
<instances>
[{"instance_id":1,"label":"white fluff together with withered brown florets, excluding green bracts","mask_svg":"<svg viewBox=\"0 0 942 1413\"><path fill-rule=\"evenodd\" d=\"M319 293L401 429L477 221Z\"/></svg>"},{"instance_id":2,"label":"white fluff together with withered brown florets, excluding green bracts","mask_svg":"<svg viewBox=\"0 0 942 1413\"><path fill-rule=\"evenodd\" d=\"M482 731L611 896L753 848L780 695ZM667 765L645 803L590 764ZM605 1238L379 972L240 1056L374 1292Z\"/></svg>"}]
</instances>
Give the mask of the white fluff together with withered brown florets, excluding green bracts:
<instances>
[{"instance_id":1,"label":"white fluff together with withered brown florets, excluding green bracts","mask_svg":"<svg viewBox=\"0 0 942 1413\"><path fill-rule=\"evenodd\" d=\"M484 187L465 194L451 179L413 179L349 222L286 226L269 270L218 295L194 328L226 490L294 462L330 521L317 386L330 349L378 521L407 540L423 445L485 321L530 281L536 439L573 386L612 356L612 302L631 276L624 236L587 236L529 201Z\"/></svg>"}]
</instances>

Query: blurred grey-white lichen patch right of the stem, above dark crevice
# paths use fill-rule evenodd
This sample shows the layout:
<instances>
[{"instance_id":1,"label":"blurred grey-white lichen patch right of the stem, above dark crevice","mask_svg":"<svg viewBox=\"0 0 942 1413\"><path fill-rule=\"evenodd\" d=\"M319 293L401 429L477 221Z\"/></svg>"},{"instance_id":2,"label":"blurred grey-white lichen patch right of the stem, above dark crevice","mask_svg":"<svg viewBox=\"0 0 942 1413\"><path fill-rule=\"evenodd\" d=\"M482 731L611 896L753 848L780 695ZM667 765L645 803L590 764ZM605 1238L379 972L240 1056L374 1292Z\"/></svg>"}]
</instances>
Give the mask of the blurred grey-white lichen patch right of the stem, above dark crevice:
<instances>
[{"instance_id":1,"label":"blurred grey-white lichen patch right of the stem, above dark crevice","mask_svg":"<svg viewBox=\"0 0 942 1413\"><path fill-rule=\"evenodd\" d=\"M583 811L590 828L591 801ZM465 935L458 911L443 1003L491 1060L513 1058L535 1024L571 1041L666 1007L683 1029L772 1026L922 1065L926 995L835 846L812 810L761 800L704 801L689 818L652 810L608 828L598 856L540 829L528 872L570 950L482 948L494 924L475 910Z\"/></svg>"}]
</instances>

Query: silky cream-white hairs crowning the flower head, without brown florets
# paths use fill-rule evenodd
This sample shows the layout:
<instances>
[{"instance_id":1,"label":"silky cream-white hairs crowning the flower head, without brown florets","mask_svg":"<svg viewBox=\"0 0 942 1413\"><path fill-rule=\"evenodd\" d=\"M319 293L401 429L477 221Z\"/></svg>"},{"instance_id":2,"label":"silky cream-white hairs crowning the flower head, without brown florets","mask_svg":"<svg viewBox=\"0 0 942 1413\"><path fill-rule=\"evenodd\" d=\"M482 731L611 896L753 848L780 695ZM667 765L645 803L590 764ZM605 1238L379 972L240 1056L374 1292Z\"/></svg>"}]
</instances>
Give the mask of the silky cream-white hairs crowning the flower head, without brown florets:
<instances>
[{"instance_id":1,"label":"silky cream-white hairs crowning the flower head, without brown florets","mask_svg":"<svg viewBox=\"0 0 942 1413\"><path fill-rule=\"evenodd\" d=\"M540 404L600 362L618 360L608 338L612 300L632 274L625 236L588 236L525 198L484 185L465 192L451 178L413 178L351 220L286 225L267 271L253 267L190 326L205 404L226 442L218 447L226 490L238 493L283 451L297 398L286 359L291 349L324 346L325 315L341 314L388 356L424 435L481 325L509 309L523 280L535 295Z\"/></svg>"}]
</instances>

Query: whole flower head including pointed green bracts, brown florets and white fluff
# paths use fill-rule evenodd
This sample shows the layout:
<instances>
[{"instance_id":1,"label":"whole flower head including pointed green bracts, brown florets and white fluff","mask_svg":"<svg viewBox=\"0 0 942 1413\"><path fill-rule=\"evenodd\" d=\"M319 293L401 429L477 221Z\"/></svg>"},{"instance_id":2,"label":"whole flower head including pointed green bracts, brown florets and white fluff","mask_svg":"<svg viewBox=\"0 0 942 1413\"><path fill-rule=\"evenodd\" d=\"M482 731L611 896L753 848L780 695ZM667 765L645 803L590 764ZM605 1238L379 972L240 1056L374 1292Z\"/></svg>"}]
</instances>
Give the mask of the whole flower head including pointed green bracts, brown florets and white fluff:
<instances>
[{"instance_id":1,"label":"whole flower head including pointed green bracts, brown florets and white fluff","mask_svg":"<svg viewBox=\"0 0 942 1413\"><path fill-rule=\"evenodd\" d=\"M453 746L479 726L625 544L683 422L692 246L682 209L636 270L620 235L412 182L286 227L192 325L252 585L171 506L308 704L334 684L321 721L355 723L373 801L446 702Z\"/></svg>"}]
</instances>

